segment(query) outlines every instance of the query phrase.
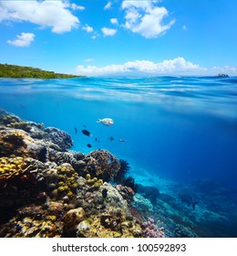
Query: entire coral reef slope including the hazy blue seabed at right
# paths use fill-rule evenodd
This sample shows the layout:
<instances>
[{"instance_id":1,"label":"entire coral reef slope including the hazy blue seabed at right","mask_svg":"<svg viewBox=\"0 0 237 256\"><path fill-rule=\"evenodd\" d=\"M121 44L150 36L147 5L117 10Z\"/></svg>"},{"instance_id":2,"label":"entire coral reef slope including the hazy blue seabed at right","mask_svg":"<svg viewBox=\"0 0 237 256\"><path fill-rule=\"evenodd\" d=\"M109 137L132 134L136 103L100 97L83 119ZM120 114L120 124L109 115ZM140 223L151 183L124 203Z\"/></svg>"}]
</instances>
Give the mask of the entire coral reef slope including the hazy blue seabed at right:
<instances>
[{"instance_id":1,"label":"entire coral reef slope including the hazy blue seabed at right","mask_svg":"<svg viewBox=\"0 0 237 256\"><path fill-rule=\"evenodd\" d=\"M71 145L68 133L0 109L0 237L236 237L236 191L136 170L137 184L126 160Z\"/></svg>"}]
</instances>

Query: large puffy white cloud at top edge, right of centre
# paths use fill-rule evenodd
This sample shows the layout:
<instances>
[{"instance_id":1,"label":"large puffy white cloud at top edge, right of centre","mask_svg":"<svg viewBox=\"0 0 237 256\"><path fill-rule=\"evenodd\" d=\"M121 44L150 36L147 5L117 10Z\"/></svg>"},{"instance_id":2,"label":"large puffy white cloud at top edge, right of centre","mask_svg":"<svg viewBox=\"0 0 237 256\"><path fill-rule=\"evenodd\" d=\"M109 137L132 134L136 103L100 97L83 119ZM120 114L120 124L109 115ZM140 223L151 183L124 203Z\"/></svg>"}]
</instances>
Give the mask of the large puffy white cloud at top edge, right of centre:
<instances>
[{"instance_id":1,"label":"large puffy white cloud at top edge, right of centre","mask_svg":"<svg viewBox=\"0 0 237 256\"><path fill-rule=\"evenodd\" d=\"M163 19L168 16L165 7L155 5L157 1L126 1L122 3L125 10L126 23L124 27L142 37L155 38L165 33L174 24L174 20L164 24Z\"/></svg>"}]
</instances>

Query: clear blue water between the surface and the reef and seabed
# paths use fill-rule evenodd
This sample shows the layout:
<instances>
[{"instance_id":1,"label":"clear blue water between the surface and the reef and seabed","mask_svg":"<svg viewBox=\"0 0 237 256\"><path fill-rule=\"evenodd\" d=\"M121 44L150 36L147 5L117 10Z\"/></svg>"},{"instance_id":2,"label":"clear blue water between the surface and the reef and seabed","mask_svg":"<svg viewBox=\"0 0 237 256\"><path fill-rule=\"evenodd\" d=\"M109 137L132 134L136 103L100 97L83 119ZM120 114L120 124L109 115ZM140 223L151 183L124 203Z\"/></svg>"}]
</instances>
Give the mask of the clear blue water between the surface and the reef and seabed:
<instances>
[{"instance_id":1,"label":"clear blue water between the surface and the reef and seabed","mask_svg":"<svg viewBox=\"0 0 237 256\"><path fill-rule=\"evenodd\" d=\"M129 162L135 178L144 170L236 188L237 78L0 79L0 108L67 131L73 150L108 149ZM115 124L96 123L105 117ZM81 133L85 127L93 136Z\"/></svg>"}]
</instances>

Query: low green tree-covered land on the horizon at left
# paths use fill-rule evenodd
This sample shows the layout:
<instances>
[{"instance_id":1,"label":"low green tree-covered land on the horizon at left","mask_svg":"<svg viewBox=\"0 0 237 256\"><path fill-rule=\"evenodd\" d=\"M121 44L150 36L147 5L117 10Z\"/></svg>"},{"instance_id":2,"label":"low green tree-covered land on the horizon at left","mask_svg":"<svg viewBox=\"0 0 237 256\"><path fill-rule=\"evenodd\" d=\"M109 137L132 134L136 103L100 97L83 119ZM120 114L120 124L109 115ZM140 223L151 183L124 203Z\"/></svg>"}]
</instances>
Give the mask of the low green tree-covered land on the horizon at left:
<instances>
[{"instance_id":1,"label":"low green tree-covered land on the horizon at left","mask_svg":"<svg viewBox=\"0 0 237 256\"><path fill-rule=\"evenodd\" d=\"M32 67L0 64L0 78L71 79L81 76L60 74Z\"/></svg>"}]
</instances>

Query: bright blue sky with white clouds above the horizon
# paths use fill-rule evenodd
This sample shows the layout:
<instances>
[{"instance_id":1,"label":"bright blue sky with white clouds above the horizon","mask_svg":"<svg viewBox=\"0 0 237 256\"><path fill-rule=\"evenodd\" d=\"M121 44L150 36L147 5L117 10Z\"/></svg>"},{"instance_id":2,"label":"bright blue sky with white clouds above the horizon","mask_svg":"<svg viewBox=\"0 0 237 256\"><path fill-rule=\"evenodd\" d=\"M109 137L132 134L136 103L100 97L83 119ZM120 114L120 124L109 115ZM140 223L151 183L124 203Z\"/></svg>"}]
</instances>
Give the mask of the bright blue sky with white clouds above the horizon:
<instances>
[{"instance_id":1,"label":"bright blue sky with white clouds above the horizon","mask_svg":"<svg viewBox=\"0 0 237 256\"><path fill-rule=\"evenodd\" d=\"M87 76L237 76L235 0L0 0L0 63Z\"/></svg>"}]
</instances>

